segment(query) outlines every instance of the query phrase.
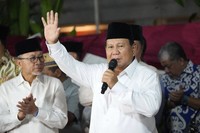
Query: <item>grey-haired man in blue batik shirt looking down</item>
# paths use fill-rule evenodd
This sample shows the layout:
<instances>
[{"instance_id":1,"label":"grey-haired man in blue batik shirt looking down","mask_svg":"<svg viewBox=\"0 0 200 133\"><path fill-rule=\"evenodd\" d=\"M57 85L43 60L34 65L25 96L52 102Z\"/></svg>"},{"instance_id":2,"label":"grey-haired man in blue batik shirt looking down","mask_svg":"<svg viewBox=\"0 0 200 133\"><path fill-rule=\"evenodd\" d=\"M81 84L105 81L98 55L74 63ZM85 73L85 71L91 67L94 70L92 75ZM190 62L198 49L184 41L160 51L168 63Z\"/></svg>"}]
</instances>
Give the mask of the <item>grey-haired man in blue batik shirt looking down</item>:
<instances>
[{"instance_id":1,"label":"grey-haired man in blue batik shirt looking down","mask_svg":"<svg viewBox=\"0 0 200 133\"><path fill-rule=\"evenodd\" d=\"M194 120L200 131L200 66L189 60L177 42L167 42L161 47L158 58L164 67L161 75L166 107L167 133L190 133Z\"/></svg>"}]
</instances>

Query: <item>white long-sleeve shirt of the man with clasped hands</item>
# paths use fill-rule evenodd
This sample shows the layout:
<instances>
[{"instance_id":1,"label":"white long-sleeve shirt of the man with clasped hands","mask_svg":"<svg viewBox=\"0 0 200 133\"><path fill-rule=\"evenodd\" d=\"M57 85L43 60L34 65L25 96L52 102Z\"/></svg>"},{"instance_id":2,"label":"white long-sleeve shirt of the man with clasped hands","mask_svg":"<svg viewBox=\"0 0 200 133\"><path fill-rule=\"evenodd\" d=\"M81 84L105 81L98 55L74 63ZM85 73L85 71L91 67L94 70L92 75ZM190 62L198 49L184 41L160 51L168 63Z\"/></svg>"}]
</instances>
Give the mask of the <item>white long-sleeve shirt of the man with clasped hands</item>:
<instances>
[{"instance_id":1,"label":"white long-sleeve shirt of the man with clasped hands","mask_svg":"<svg viewBox=\"0 0 200 133\"><path fill-rule=\"evenodd\" d=\"M19 101L32 93L39 108L38 115L17 118ZM37 76L31 86L21 74L0 86L0 132L58 133L68 121L65 92L60 80L46 75Z\"/></svg>"}]
</instances>

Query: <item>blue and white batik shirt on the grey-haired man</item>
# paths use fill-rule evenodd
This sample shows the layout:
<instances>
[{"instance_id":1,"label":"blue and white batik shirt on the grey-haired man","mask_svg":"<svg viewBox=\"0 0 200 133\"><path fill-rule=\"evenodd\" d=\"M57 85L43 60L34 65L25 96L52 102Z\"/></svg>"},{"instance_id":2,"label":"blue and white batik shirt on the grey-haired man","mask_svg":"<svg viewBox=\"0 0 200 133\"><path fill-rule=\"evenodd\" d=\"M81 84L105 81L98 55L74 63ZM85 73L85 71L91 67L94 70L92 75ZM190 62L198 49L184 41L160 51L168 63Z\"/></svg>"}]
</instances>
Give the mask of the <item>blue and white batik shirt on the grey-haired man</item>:
<instances>
[{"instance_id":1,"label":"blue and white batik shirt on the grey-haired man","mask_svg":"<svg viewBox=\"0 0 200 133\"><path fill-rule=\"evenodd\" d=\"M165 98L169 99L169 94L178 91L180 86L184 88L184 95L193 98L200 98L200 66L189 61L187 67L181 73L178 79L171 79L167 74L161 76ZM176 107L167 111L167 125L172 133L183 133L191 119L195 116L197 110L186 106L176 105ZM199 115L196 119L199 121ZM198 126L199 128L199 126ZM200 130L199 130L200 131Z\"/></svg>"}]
</instances>

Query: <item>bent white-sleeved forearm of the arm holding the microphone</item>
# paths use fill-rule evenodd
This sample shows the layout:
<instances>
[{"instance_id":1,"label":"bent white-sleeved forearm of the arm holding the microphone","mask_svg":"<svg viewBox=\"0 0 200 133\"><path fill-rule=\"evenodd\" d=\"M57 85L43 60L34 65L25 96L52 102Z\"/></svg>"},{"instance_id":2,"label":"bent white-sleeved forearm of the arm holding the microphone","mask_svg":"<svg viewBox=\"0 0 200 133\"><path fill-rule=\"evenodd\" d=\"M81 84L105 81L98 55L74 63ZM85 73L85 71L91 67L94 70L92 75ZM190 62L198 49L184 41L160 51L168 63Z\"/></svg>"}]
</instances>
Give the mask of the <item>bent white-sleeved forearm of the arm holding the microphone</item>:
<instances>
[{"instance_id":1,"label":"bent white-sleeved forearm of the arm holding the microphone","mask_svg":"<svg viewBox=\"0 0 200 133\"><path fill-rule=\"evenodd\" d=\"M119 103L124 107L124 112L136 112L147 117L152 117L158 112L161 104L160 91L149 89L146 92L135 92L120 83L117 83L115 87L118 89L113 88L112 91L117 94Z\"/></svg>"}]
</instances>

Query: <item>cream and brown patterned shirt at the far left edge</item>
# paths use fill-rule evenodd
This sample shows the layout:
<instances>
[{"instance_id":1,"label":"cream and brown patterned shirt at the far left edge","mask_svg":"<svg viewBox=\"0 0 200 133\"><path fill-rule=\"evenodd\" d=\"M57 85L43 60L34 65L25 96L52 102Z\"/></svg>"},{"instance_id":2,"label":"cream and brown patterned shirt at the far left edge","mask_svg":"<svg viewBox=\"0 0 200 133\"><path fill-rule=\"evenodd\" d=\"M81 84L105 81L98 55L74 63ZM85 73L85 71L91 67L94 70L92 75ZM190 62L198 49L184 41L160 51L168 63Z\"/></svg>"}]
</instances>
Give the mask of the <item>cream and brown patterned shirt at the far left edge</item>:
<instances>
[{"instance_id":1,"label":"cream and brown patterned shirt at the far left edge","mask_svg":"<svg viewBox=\"0 0 200 133\"><path fill-rule=\"evenodd\" d=\"M0 84L19 74L19 69L16 66L13 57L8 51L0 59Z\"/></svg>"}]
</instances>

